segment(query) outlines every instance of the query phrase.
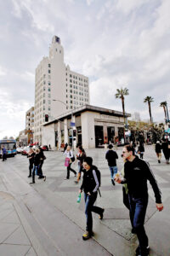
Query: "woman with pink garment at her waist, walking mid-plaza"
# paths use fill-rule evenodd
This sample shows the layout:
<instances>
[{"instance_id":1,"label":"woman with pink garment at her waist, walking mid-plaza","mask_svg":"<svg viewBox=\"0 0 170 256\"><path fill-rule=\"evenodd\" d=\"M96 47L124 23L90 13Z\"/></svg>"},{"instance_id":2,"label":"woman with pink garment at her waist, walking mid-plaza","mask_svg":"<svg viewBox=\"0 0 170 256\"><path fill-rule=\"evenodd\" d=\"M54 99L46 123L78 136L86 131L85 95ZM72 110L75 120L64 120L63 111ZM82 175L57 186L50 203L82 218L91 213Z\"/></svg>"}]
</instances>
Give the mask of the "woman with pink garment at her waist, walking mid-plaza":
<instances>
[{"instance_id":1,"label":"woman with pink garment at her waist, walking mid-plaza","mask_svg":"<svg viewBox=\"0 0 170 256\"><path fill-rule=\"evenodd\" d=\"M72 162L75 161L75 157L74 157L74 154L72 153L71 146L67 146L64 154L66 155L65 166L67 167L67 175L65 179L70 178L70 171L75 174L75 177L77 177L77 172L71 168Z\"/></svg>"}]
</instances>

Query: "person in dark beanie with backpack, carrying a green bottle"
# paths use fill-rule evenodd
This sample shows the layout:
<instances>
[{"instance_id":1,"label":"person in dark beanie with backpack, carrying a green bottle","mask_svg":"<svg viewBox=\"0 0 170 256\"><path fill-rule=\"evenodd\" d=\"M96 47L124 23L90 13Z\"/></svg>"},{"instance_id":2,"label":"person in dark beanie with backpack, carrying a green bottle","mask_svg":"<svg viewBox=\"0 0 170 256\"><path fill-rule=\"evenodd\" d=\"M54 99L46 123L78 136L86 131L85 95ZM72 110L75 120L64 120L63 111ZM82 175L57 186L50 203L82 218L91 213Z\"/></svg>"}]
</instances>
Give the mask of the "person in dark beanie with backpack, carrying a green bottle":
<instances>
[{"instance_id":1,"label":"person in dark beanie with backpack, carrying a green bottle","mask_svg":"<svg viewBox=\"0 0 170 256\"><path fill-rule=\"evenodd\" d=\"M85 214L86 214L86 232L82 235L83 240L88 240L94 236L92 212L99 214L99 219L103 219L105 209L95 207L94 202L97 199L98 189L100 185L100 172L96 166L92 165L93 159L86 157L83 161L83 179L79 193L84 191Z\"/></svg>"}]
</instances>

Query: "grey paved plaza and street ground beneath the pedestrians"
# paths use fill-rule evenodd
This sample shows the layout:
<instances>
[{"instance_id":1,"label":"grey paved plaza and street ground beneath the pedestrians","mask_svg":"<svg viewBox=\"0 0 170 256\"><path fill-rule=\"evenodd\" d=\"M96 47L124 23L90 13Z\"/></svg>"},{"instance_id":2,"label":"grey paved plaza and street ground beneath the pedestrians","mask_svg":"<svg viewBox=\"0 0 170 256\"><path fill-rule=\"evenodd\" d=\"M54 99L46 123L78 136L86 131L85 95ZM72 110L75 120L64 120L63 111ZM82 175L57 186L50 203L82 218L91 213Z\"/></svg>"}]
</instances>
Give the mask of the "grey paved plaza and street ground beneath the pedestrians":
<instances>
[{"instance_id":1,"label":"grey paved plaza and street ground beneath the pedestrians","mask_svg":"<svg viewBox=\"0 0 170 256\"><path fill-rule=\"evenodd\" d=\"M0 255L114 255L133 256L138 245L131 233L128 211L122 204L122 185L111 184L105 149L89 149L94 165L101 172L101 195L97 205L105 208L104 219L94 214L93 239L82 241L86 219L84 202L77 203L75 177L66 176L61 152L45 152L42 170L46 182L36 179L30 185L28 159L17 155L0 161ZM118 169L122 169L122 148L117 148ZM150 162L162 193L165 209L156 211L155 196L149 185L150 201L145 229L150 240L150 255L170 255L170 166L164 156L157 163L153 146L146 146L144 160ZM77 171L77 164L72 167Z\"/></svg>"}]
</instances>

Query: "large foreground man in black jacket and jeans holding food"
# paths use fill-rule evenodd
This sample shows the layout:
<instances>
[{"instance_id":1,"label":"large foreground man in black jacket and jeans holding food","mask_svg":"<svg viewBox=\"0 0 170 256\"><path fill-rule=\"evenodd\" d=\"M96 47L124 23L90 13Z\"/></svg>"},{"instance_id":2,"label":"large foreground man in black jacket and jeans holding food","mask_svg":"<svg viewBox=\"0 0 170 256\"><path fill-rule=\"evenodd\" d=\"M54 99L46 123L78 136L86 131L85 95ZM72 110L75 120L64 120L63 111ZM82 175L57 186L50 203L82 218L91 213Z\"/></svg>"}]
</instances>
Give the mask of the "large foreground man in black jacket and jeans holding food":
<instances>
[{"instance_id":1,"label":"large foreground man in black jacket and jeans holding food","mask_svg":"<svg viewBox=\"0 0 170 256\"><path fill-rule=\"evenodd\" d=\"M139 247L136 255L149 255L149 241L144 230L144 218L148 205L147 180L150 181L156 197L156 207L161 212L161 191L158 188L156 179L150 170L150 166L144 160L134 155L134 148L126 145L122 150L123 157L127 160L124 165L124 177L116 177L118 183L127 183L130 212L133 220L133 228L139 239Z\"/></svg>"}]
</instances>

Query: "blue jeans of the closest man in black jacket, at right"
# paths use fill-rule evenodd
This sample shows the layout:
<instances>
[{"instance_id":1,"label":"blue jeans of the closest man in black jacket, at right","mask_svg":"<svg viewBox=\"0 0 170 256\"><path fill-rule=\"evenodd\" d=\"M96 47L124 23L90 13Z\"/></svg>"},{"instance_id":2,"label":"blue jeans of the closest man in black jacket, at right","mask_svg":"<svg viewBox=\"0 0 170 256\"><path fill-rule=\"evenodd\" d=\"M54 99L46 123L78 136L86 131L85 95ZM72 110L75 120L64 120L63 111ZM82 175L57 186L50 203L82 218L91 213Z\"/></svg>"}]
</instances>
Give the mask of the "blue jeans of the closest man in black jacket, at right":
<instances>
[{"instance_id":1,"label":"blue jeans of the closest man in black jacket, at right","mask_svg":"<svg viewBox=\"0 0 170 256\"><path fill-rule=\"evenodd\" d=\"M148 205L148 196L144 198L133 198L133 196L129 195L128 199L130 204L130 216L132 218L131 222L138 236L139 247L142 252L142 250L148 246L148 236L146 236L144 230L144 218Z\"/></svg>"}]
</instances>

